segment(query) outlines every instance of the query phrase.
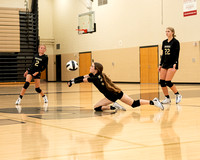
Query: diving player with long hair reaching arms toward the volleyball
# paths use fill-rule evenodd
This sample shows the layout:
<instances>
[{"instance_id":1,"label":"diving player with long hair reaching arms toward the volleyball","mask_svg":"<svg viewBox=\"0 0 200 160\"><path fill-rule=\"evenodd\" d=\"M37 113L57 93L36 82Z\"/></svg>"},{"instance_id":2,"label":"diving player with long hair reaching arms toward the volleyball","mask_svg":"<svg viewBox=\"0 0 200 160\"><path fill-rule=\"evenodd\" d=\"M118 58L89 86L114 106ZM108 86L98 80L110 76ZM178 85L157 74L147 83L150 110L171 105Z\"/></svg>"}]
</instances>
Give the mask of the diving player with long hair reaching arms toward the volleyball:
<instances>
[{"instance_id":1,"label":"diving player with long hair reaching arms toward the volleyball","mask_svg":"<svg viewBox=\"0 0 200 160\"><path fill-rule=\"evenodd\" d=\"M97 89L105 96L102 100L100 100L94 106L95 111L103 111L103 110L115 110L121 109L126 110L124 107L119 105L116 101L119 99L122 102L128 104L129 106L138 107L140 105L155 105L160 109L164 109L163 105L157 98L153 100L133 100L128 95L123 93L120 88L118 88L107 76L105 73L102 73L103 66L100 63L92 63L90 67L90 74L85 76L80 76L75 79L70 80L67 84L69 87L72 86L73 83L81 83L81 82L91 82L93 83ZM110 104L114 103L112 106Z\"/></svg>"}]
</instances>

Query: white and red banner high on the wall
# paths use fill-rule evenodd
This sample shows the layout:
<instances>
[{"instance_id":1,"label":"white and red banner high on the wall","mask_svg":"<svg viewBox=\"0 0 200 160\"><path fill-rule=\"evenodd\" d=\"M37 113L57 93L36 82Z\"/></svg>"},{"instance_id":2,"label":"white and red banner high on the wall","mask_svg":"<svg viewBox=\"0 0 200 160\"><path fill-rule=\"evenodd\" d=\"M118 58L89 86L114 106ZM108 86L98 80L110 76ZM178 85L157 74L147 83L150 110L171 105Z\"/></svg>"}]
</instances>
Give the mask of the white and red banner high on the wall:
<instances>
[{"instance_id":1,"label":"white and red banner high on the wall","mask_svg":"<svg viewBox=\"0 0 200 160\"><path fill-rule=\"evenodd\" d=\"M183 0L183 16L197 15L197 0Z\"/></svg>"}]
</instances>

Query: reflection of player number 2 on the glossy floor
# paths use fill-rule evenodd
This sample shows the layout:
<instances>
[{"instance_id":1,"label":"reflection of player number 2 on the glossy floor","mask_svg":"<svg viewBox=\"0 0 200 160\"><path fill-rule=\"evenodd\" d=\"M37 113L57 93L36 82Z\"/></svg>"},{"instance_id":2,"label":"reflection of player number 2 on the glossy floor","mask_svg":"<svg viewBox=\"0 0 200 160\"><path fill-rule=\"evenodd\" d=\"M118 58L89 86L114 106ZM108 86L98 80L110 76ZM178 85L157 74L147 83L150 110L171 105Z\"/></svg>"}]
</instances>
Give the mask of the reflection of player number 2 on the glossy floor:
<instances>
[{"instance_id":1,"label":"reflection of player number 2 on the glossy floor","mask_svg":"<svg viewBox=\"0 0 200 160\"><path fill-rule=\"evenodd\" d=\"M42 119L32 119L28 121L29 108L23 108L22 105L16 105L16 110L19 114L18 121L21 123L21 151L24 157L27 159L31 157L46 157L49 150L49 140L43 133L45 126L42 124ZM25 112L24 112L25 110ZM45 103L41 107L35 109L32 108L32 113L43 115L48 110L48 103ZM45 131L44 131L45 132ZM29 152L32 152L30 155Z\"/></svg>"}]
</instances>

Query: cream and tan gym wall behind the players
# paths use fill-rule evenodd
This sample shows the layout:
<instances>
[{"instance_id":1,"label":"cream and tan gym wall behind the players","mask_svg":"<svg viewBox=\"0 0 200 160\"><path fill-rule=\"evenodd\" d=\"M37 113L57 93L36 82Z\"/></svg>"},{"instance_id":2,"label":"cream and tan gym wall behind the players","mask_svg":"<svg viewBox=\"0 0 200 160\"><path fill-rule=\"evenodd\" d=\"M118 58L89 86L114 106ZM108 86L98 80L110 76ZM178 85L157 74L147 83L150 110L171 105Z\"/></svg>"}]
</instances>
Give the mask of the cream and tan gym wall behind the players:
<instances>
[{"instance_id":1,"label":"cream and tan gym wall behind the players","mask_svg":"<svg viewBox=\"0 0 200 160\"><path fill-rule=\"evenodd\" d=\"M97 32L78 35L75 31L78 14L88 11L85 0L39 1L40 38L55 40L53 52L48 54L62 54L69 59L70 54L92 51L93 59L104 64L104 71L114 81L139 82L139 47L159 45L161 54L160 45L166 39L165 28L172 26L181 43L180 69L174 82L200 83L200 15L183 17L183 1L168 0L162 5L160 0L109 0L103 6L98 6L97 2L93 2ZM199 11L200 6L197 7ZM59 50L55 48L56 44L60 44ZM51 64L55 63L51 61ZM49 69L48 73L55 80L54 70ZM67 80L65 74L71 77L77 73L62 72L65 77L62 80Z\"/></svg>"}]
</instances>

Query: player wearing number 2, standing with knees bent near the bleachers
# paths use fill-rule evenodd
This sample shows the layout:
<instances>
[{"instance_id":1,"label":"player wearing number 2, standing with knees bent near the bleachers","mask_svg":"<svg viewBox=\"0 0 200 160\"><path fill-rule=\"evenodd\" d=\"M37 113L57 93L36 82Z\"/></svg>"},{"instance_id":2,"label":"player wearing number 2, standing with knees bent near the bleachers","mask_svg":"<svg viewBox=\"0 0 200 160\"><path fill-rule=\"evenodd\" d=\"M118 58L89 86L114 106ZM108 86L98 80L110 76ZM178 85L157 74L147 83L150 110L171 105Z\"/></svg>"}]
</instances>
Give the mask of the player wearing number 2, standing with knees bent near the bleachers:
<instances>
[{"instance_id":1,"label":"player wearing number 2, standing with knees bent near the bleachers","mask_svg":"<svg viewBox=\"0 0 200 160\"><path fill-rule=\"evenodd\" d=\"M19 98L15 102L16 105L19 105L21 103L21 100L27 88L29 87L32 78L34 78L34 81L35 81L35 91L40 93L45 103L48 103L47 96L40 89L40 75L41 75L41 72L45 70L45 68L47 68L47 64L48 64L48 56L45 55L45 51L46 51L46 46L40 45L38 48L39 53L34 55L31 66L24 73L24 77L26 77L26 82L21 90Z\"/></svg>"}]
</instances>

